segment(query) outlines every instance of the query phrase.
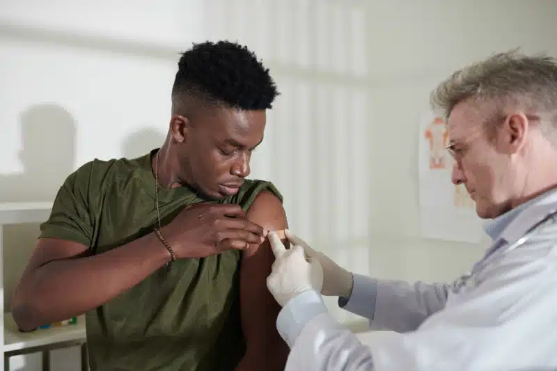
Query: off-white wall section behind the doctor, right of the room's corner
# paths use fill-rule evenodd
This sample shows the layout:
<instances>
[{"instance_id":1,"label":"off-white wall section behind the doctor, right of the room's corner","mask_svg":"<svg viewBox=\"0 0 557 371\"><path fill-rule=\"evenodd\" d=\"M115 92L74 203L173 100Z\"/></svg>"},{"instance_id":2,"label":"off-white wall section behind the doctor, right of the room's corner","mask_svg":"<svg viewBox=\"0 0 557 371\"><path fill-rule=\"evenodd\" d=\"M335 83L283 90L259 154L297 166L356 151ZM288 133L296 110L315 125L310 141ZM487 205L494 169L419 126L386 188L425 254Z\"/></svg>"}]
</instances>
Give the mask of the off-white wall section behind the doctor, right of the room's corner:
<instances>
[{"instance_id":1,"label":"off-white wall section behind the doctor, right of the room's corner","mask_svg":"<svg viewBox=\"0 0 557 371\"><path fill-rule=\"evenodd\" d=\"M419 237L418 123L428 95L466 63L521 47L557 55L557 3L382 1L368 15L373 181L370 272L382 278L453 280L488 243ZM447 180L449 181L449 180Z\"/></svg>"}]
</instances>

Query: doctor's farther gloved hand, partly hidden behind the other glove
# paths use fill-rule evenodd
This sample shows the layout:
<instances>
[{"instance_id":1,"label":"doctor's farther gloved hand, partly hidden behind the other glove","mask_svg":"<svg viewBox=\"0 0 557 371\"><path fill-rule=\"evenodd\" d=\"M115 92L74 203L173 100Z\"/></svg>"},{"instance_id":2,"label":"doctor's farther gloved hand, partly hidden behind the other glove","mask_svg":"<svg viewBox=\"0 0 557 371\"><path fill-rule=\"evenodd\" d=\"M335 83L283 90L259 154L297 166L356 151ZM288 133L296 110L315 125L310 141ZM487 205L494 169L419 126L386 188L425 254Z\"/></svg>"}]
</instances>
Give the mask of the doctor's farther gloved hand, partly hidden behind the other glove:
<instances>
[{"instance_id":1,"label":"doctor's farther gloved hand, partly hidden behind the other glove","mask_svg":"<svg viewBox=\"0 0 557 371\"><path fill-rule=\"evenodd\" d=\"M354 285L354 276L350 271L340 267L324 253L313 250L303 239L297 237L290 230L285 230L284 234L292 246L303 246L308 258L319 260L323 269L321 294L329 297L350 297Z\"/></svg>"}]
</instances>

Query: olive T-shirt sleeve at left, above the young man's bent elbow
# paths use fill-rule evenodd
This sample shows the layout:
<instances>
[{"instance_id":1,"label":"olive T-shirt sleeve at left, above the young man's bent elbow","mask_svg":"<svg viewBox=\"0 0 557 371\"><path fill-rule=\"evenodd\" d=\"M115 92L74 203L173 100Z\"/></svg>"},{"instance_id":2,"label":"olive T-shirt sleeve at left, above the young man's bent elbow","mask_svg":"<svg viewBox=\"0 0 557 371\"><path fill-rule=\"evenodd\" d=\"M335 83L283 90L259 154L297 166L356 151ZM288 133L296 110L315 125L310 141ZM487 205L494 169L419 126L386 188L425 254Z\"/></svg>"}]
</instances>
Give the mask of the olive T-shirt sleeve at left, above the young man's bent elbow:
<instances>
[{"instance_id":1,"label":"olive T-shirt sleeve at left, above the young man's bent elbow","mask_svg":"<svg viewBox=\"0 0 557 371\"><path fill-rule=\"evenodd\" d=\"M89 209L92 163L70 174L54 199L49 219L40 225L39 238L65 239L91 247L93 217Z\"/></svg>"}]
</instances>

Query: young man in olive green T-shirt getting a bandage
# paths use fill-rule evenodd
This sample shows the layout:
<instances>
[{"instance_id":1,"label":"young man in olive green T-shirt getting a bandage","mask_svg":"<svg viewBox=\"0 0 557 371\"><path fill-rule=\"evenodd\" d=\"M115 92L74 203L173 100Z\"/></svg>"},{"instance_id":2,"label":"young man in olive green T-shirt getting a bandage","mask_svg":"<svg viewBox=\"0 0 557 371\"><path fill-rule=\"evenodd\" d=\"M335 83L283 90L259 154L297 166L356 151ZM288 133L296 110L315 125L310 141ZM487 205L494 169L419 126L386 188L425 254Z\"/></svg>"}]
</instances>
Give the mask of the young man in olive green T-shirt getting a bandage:
<instances>
[{"instance_id":1,"label":"young man in olive green T-shirt getting a bandage","mask_svg":"<svg viewBox=\"0 0 557 371\"><path fill-rule=\"evenodd\" d=\"M247 180L277 95L231 42L185 52L159 150L72 173L13 299L24 331L86 313L92 371L283 370L265 230L273 184Z\"/></svg>"}]
</instances>

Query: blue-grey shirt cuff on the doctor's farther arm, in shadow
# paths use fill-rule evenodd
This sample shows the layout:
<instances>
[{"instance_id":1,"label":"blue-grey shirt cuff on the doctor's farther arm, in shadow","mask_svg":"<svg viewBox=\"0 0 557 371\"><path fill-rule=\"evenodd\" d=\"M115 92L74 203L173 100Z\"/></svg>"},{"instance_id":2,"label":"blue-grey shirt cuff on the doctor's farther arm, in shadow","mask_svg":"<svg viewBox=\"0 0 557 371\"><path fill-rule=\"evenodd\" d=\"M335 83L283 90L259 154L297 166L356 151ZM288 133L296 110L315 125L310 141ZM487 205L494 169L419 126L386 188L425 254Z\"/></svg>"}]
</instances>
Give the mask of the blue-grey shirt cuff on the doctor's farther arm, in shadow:
<instances>
[{"instance_id":1,"label":"blue-grey shirt cuff on the doctor's farther arm, in shadow","mask_svg":"<svg viewBox=\"0 0 557 371\"><path fill-rule=\"evenodd\" d=\"M354 285L350 298L339 297L338 306L350 313L373 320L377 300L377 279L361 274L352 274Z\"/></svg>"}]
</instances>

